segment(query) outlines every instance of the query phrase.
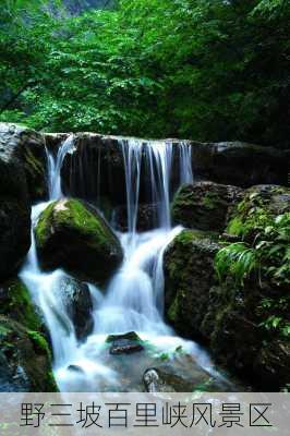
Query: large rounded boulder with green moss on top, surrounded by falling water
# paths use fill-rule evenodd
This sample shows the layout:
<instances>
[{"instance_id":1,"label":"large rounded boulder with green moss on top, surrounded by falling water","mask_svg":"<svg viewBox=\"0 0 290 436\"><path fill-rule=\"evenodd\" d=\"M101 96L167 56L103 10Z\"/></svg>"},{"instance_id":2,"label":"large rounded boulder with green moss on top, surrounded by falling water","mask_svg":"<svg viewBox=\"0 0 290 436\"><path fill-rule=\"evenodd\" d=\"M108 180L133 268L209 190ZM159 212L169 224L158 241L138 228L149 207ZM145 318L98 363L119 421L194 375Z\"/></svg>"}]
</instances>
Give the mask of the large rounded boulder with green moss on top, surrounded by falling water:
<instances>
[{"instance_id":1,"label":"large rounded boulder with green moss on top, surrounded by falling water","mask_svg":"<svg viewBox=\"0 0 290 436\"><path fill-rule=\"evenodd\" d=\"M64 268L99 284L122 261L118 238L95 208L78 199L51 203L38 219L35 237L45 269Z\"/></svg>"}]
</instances>

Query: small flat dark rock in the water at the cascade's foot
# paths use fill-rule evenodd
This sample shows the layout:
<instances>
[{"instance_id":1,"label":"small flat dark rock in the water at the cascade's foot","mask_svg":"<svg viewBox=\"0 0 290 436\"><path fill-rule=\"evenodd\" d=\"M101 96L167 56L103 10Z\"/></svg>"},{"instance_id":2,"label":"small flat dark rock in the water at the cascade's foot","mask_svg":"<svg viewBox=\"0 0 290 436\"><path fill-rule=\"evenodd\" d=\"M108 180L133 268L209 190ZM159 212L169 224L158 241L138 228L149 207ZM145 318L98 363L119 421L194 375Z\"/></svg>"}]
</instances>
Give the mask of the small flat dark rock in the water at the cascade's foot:
<instances>
[{"instance_id":1,"label":"small flat dark rock in the water at the cascade's foot","mask_svg":"<svg viewBox=\"0 0 290 436\"><path fill-rule=\"evenodd\" d=\"M131 354L144 350L143 341L134 331L110 335L106 342L110 343L110 354Z\"/></svg>"}]
</instances>

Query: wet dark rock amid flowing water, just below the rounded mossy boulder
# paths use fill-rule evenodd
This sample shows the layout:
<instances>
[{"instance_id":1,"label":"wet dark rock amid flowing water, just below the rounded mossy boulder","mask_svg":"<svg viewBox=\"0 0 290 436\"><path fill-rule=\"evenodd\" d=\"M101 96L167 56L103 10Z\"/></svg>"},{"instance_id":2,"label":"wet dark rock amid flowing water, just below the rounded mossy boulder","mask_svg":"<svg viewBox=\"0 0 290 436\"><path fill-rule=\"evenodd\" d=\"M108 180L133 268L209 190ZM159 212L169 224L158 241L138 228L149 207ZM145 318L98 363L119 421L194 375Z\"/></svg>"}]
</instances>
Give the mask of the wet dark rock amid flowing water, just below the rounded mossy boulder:
<instances>
[{"instance_id":1,"label":"wet dark rock amid flowing water, just below the rounded mossy boulder","mask_svg":"<svg viewBox=\"0 0 290 436\"><path fill-rule=\"evenodd\" d=\"M94 328L93 301L88 286L72 277L63 277L60 292L65 312L70 316L77 339L86 338Z\"/></svg>"}]
</instances>

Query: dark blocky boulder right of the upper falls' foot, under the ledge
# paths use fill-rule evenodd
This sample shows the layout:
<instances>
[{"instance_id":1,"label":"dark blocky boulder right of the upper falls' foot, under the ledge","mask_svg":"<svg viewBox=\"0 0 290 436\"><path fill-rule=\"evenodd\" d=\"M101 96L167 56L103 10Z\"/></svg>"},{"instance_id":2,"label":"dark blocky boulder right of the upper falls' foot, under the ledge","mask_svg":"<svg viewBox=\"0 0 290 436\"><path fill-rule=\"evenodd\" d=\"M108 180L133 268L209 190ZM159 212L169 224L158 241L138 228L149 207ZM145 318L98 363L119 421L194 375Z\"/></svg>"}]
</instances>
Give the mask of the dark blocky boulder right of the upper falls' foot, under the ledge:
<instances>
[{"instance_id":1,"label":"dark blocky boulder right of the upper falls' foot, under the ledge","mask_svg":"<svg viewBox=\"0 0 290 436\"><path fill-rule=\"evenodd\" d=\"M241 194L240 187L213 182L182 185L172 202L172 219L190 229L220 232Z\"/></svg>"}]
</instances>

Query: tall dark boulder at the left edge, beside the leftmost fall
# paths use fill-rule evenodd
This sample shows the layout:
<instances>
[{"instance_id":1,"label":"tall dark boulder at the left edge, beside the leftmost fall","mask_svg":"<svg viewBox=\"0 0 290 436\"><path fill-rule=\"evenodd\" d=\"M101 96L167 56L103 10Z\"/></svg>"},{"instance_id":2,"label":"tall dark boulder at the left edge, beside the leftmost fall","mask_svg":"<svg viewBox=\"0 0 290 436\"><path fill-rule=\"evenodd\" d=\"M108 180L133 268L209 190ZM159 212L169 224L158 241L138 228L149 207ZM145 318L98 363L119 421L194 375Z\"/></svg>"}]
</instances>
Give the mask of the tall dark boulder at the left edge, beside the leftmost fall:
<instances>
[{"instance_id":1,"label":"tall dark boulder at the left edge, beside the leftmost fall","mask_svg":"<svg viewBox=\"0 0 290 436\"><path fill-rule=\"evenodd\" d=\"M31 246L31 203L46 195L40 134L0 123L0 281L15 274Z\"/></svg>"}]
</instances>

